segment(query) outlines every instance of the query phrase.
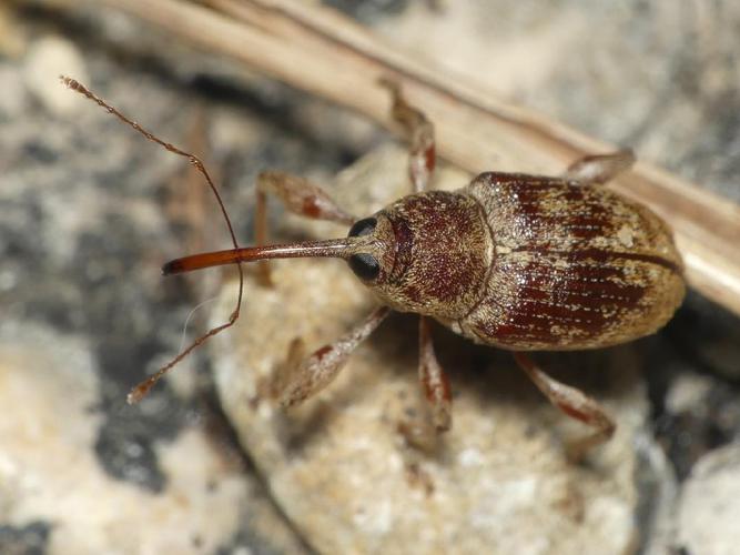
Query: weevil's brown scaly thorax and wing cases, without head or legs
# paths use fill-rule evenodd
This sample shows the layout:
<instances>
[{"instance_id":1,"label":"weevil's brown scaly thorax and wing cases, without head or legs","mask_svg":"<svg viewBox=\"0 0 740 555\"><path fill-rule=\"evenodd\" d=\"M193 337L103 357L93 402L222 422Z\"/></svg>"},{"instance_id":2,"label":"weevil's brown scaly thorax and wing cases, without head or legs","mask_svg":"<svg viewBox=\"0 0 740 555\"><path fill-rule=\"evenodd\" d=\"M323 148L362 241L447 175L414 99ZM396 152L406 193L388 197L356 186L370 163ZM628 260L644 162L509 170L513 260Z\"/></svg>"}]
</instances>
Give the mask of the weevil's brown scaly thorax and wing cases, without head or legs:
<instances>
[{"instance_id":1,"label":"weevil's brown scaly thorax and wing cases, without head or legs","mask_svg":"<svg viewBox=\"0 0 740 555\"><path fill-rule=\"evenodd\" d=\"M683 296L652 212L576 180L484 173L374 218L365 275L385 304L518 351L604 347L653 333ZM362 274L361 274L362 276Z\"/></svg>"}]
</instances>

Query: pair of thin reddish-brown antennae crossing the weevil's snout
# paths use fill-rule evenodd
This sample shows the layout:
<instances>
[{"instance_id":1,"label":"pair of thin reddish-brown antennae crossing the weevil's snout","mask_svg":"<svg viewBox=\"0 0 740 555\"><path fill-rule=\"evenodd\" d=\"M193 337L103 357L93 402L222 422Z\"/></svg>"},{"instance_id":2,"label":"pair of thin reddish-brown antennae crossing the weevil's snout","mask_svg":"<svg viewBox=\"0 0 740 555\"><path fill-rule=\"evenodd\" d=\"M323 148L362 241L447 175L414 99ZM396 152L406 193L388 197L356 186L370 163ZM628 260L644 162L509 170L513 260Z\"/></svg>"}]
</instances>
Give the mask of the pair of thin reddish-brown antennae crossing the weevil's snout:
<instances>
[{"instance_id":1,"label":"pair of thin reddish-brown antennae crossing the weevil's snout","mask_svg":"<svg viewBox=\"0 0 740 555\"><path fill-rule=\"evenodd\" d=\"M209 186L211 188L211 191L213 192L216 202L219 203L219 208L221 209L221 213L224 216L224 220L226 222L226 228L229 229L229 234L231 235L231 241L234 245L235 250L239 250L239 243L236 242L236 234L234 233L234 228L232 226L231 219L229 218L229 213L226 212L226 208L224 206L223 200L221 199L221 194L219 193L219 190L216 189L215 184L213 183L213 180L211 179L211 175L209 174L207 170L205 169L205 165L203 165L203 162L201 161L200 158L197 158L194 154L191 154L190 152L185 152L182 149L179 149L178 147L165 142L161 140L160 138L155 137L153 133L146 131L144 128L142 128L139 123L135 121L126 118L123 113L121 113L119 110L113 108L111 104L105 102L103 99L100 97L95 95L92 91L90 91L87 87L84 87L82 83L79 81L71 79L69 77L60 75L61 82L68 88L73 90L74 92L79 92L80 94L87 97L88 99L92 100L95 102L101 108L104 108L108 113L116 117L119 120L121 120L123 123L126 123L134 130L136 130L139 133L144 135L145 139L149 141L152 141L163 149L178 154L180 157L186 158L187 161L193 165L203 176L205 178L205 181L207 182ZM129 404L138 403L141 401L152 389L152 386L159 382L164 374L170 372L174 366L180 363L185 356L187 356L193 350L202 345L205 341L213 337L217 333L226 330L227 327L231 327L234 325L236 320L239 319L240 314L240 307L242 305L242 296L243 296L243 290L244 290L244 273L242 271L242 266L239 264L239 260L233 261L237 269L239 269L239 296L236 299L236 305L234 306L234 310L232 311L231 315L229 316L229 320L215 327L212 327L206 333L197 337L195 341L193 341L187 347L185 347L183 351L181 351L174 359L172 359L169 363L166 363L164 366L159 369L156 373L154 373L151 377L144 380L141 382L139 385L136 385L129 395L126 396L126 401Z\"/></svg>"}]
</instances>

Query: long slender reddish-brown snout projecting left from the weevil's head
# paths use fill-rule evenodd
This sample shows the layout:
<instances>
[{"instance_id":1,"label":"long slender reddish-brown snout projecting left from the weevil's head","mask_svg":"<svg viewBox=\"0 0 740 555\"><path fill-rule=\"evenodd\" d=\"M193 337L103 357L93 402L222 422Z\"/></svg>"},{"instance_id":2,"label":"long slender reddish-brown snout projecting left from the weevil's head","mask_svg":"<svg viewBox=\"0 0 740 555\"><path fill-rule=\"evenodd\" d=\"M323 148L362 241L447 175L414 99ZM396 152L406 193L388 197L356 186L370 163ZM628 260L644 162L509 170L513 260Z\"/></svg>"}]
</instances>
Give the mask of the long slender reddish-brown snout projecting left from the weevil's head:
<instances>
[{"instance_id":1,"label":"long slender reddish-brown snout projecting left from the weevil's head","mask_svg":"<svg viewBox=\"0 0 740 555\"><path fill-rule=\"evenodd\" d=\"M300 243L244 246L227 251L204 252L175 259L162 266L164 275L191 272L204 268L221 266L236 262L253 262L268 259L337 258L347 259L355 254L357 238L330 239L327 241L304 241Z\"/></svg>"}]
</instances>

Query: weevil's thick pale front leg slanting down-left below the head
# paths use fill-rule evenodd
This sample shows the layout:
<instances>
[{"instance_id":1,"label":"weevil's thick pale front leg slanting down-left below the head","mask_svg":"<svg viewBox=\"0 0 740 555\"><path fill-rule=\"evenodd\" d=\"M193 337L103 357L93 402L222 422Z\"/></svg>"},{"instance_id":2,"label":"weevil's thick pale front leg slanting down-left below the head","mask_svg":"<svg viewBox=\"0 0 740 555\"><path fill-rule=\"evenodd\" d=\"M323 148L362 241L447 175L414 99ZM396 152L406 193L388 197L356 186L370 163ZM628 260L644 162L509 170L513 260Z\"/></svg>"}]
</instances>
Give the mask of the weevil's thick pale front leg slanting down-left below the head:
<instances>
[{"instance_id":1,"label":"weevil's thick pale front leg slanting down-left below the head","mask_svg":"<svg viewBox=\"0 0 740 555\"><path fill-rule=\"evenodd\" d=\"M283 406L292 406L315 395L334 380L352 352L365 341L388 315L391 309L381 306L354 329L331 345L324 345L305 359L286 376L280 401ZM293 349L292 349L293 351ZM288 355L288 359L291 356Z\"/></svg>"}]
</instances>

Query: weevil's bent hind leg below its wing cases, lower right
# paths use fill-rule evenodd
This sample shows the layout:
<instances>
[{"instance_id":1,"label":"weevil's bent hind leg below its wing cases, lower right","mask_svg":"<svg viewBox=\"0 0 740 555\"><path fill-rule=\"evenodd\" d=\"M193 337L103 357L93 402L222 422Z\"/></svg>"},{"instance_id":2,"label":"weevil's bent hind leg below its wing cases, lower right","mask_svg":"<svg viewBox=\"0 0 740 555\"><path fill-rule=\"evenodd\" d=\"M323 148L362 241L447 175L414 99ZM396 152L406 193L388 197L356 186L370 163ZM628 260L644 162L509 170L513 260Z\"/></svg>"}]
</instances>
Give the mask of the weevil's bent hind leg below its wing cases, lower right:
<instances>
[{"instance_id":1,"label":"weevil's bent hind leg below its wing cases, lower right","mask_svg":"<svg viewBox=\"0 0 740 555\"><path fill-rule=\"evenodd\" d=\"M580 461L588 450L606 442L614 435L616 430L614 421L596 401L584 392L545 374L525 353L514 353L514 360L535 382L539 391L550 400L550 403L571 418L577 418L596 428L592 434L568 445L568 455L571 460Z\"/></svg>"}]
</instances>

